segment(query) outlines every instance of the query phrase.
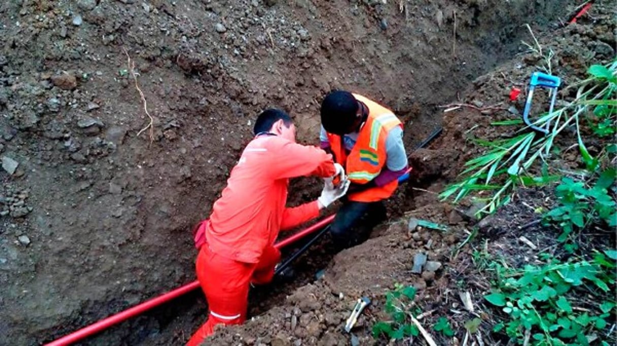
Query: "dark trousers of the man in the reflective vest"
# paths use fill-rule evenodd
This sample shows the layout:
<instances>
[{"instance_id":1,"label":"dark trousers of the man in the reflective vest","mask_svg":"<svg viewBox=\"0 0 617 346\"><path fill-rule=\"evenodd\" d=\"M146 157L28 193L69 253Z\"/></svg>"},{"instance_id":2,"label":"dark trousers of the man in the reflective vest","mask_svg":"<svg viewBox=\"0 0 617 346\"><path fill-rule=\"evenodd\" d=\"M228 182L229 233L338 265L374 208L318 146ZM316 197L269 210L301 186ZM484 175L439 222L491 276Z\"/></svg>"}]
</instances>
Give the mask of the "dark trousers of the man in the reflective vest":
<instances>
[{"instance_id":1,"label":"dark trousers of the man in the reflective vest","mask_svg":"<svg viewBox=\"0 0 617 346\"><path fill-rule=\"evenodd\" d=\"M337 250L347 249L366 241L371 230L386 220L383 202L352 202L345 200L330 225L330 234Z\"/></svg>"}]
</instances>

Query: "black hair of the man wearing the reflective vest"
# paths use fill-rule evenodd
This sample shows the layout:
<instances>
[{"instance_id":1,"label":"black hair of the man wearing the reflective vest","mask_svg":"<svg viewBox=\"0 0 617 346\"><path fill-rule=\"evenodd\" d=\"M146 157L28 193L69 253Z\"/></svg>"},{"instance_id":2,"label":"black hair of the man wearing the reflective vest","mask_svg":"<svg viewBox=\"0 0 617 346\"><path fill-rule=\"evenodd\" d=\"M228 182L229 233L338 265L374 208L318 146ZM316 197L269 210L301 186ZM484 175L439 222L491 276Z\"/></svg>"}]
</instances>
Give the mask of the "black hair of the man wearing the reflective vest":
<instances>
[{"instance_id":1,"label":"black hair of the man wearing the reflective vest","mask_svg":"<svg viewBox=\"0 0 617 346\"><path fill-rule=\"evenodd\" d=\"M358 101L348 91L331 91L321 102L321 125L329 133L346 134L356 119Z\"/></svg>"}]
</instances>

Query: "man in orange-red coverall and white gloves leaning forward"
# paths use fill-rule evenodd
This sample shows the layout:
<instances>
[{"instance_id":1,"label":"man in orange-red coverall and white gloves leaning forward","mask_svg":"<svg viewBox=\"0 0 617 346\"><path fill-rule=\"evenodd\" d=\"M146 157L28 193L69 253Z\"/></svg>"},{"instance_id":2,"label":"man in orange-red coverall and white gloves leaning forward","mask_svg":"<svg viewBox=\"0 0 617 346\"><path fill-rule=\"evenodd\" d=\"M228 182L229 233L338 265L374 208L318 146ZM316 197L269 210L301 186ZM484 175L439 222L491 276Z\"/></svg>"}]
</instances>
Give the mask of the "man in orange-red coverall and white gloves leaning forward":
<instances>
[{"instance_id":1,"label":"man in orange-red coverall and white gloves leaning forward","mask_svg":"<svg viewBox=\"0 0 617 346\"><path fill-rule=\"evenodd\" d=\"M243 323L250 284L273 279L281 256L273 246L279 231L316 218L349 187L343 168L330 154L296 143L296 126L282 110L263 111L254 133L209 220L200 227L205 244L197 255L197 279L210 313L188 346L199 345L217 324ZM309 175L325 178L321 196L299 207L285 207L289 178ZM334 186L334 178L342 183ZM196 244L199 237L198 231Z\"/></svg>"}]
</instances>

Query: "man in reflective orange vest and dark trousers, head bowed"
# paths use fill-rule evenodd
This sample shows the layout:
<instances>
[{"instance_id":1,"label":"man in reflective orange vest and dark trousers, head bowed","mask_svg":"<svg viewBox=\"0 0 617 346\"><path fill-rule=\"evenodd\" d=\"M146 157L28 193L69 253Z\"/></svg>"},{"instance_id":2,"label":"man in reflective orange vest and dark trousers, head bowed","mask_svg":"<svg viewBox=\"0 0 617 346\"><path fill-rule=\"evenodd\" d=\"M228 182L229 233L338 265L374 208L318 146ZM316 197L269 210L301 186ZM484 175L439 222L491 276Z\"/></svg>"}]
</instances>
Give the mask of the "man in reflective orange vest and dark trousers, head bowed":
<instances>
[{"instance_id":1,"label":"man in reflective orange vest and dark trousers, head bowed","mask_svg":"<svg viewBox=\"0 0 617 346\"><path fill-rule=\"evenodd\" d=\"M362 242L366 231L386 218L383 200L392 196L408 169L403 125L375 101L347 91L332 91L321 102L321 148L331 152L351 182L330 227L341 249ZM354 232L356 226L364 232Z\"/></svg>"}]
</instances>

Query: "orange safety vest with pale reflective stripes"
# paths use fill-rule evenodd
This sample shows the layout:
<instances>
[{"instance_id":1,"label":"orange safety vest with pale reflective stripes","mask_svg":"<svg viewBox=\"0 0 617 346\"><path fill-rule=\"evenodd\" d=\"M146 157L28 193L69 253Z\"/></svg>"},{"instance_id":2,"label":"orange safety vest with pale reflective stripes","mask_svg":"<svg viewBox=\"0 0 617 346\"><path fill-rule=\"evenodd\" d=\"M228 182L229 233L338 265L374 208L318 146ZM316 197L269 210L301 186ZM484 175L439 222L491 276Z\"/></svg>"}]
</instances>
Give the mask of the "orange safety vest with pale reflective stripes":
<instances>
[{"instance_id":1,"label":"orange safety vest with pale reflective stripes","mask_svg":"<svg viewBox=\"0 0 617 346\"><path fill-rule=\"evenodd\" d=\"M386 164L387 134L396 126L402 128L403 124L391 110L383 105L364 96L353 95L355 99L368 107L368 118L360 129L354 147L347 155L341 136L328 133L328 141L334 159L345 167L349 180L355 184L366 184L378 176ZM397 186L399 186L399 181L394 179L384 186L372 187L351 194L348 198L355 202L376 202L392 196Z\"/></svg>"}]
</instances>

